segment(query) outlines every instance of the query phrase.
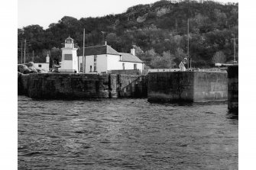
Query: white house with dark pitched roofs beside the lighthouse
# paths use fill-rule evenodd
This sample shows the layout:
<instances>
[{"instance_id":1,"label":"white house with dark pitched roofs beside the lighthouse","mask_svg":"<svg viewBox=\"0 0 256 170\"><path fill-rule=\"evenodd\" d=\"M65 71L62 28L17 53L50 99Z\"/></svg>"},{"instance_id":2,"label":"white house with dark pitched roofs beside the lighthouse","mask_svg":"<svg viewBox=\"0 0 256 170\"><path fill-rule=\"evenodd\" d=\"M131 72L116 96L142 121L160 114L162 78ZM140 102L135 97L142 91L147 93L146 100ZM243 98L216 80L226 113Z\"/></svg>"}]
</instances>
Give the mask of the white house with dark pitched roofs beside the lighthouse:
<instances>
[{"instance_id":1,"label":"white house with dark pitched roofs beside the lighthouse","mask_svg":"<svg viewBox=\"0 0 256 170\"><path fill-rule=\"evenodd\" d=\"M143 71L141 59L131 53L118 53L109 45L85 47L85 73L102 73L111 70L138 69ZM79 72L83 72L83 56L79 56Z\"/></svg>"}]
</instances>

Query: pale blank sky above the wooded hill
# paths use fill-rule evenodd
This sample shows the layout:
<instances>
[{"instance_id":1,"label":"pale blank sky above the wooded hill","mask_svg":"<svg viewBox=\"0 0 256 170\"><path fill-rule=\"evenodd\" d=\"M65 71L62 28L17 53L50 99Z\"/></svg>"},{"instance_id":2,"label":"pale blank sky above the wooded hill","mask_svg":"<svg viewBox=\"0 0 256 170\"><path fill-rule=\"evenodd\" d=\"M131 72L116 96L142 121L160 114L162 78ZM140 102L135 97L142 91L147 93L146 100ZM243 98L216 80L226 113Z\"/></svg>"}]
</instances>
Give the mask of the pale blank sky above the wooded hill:
<instances>
[{"instance_id":1,"label":"pale blank sky above the wooded hill","mask_svg":"<svg viewBox=\"0 0 256 170\"><path fill-rule=\"evenodd\" d=\"M120 14L127 8L150 4L157 0L18 0L18 27L39 24L44 29L57 23L63 16L76 19ZM216 0L238 2L238 0Z\"/></svg>"}]
</instances>

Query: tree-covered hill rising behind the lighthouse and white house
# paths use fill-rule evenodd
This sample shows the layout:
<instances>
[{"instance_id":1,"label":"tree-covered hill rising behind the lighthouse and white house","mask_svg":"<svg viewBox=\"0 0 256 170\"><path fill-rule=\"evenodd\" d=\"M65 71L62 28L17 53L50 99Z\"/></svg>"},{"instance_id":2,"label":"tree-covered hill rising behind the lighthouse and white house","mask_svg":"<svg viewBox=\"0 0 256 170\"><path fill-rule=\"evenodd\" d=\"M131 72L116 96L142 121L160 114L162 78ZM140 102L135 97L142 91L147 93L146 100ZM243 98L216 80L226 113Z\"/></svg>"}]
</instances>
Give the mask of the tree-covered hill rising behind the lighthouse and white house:
<instances>
[{"instance_id":1,"label":"tree-covered hill rising behind the lighthouse and white house","mask_svg":"<svg viewBox=\"0 0 256 170\"><path fill-rule=\"evenodd\" d=\"M83 47L83 28L86 30L86 47L103 43L104 38L118 52L128 53L132 46L151 68L177 67L187 51L187 21L190 24L190 56L193 67L207 68L214 62L233 59L234 42L238 37L238 3L221 4L205 1L166 1L151 5L136 5L122 14L109 14L100 18L64 16L49 25L18 29L18 62L21 60L21 40L27 40L27 59L44 62L60 60L66 37L72 37ZM238 44L238 40L236 41ZM238 48L236 49L238 50Z\"/></svg>"}]
</instances>

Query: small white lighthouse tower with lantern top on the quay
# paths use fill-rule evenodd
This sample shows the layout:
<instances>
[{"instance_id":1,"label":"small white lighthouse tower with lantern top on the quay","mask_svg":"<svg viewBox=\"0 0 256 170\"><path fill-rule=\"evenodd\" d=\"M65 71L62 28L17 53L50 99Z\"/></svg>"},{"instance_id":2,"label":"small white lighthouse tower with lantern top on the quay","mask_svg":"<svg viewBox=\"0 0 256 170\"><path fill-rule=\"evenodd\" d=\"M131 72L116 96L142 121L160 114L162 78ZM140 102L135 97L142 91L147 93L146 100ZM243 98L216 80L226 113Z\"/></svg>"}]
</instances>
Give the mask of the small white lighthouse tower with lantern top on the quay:
<instances>
[{"instance_id":1,"label":"small white lighthouse tower with lantern top on the quay","mask_svg":"<svg viewBox=\"0 0 256 170\"><path fill-rule=\"evenodd\" d=\"M62 50L61 67L59 72L78 72L77 48L71 37L66 38Z\"/></svg>"}]
</instances>

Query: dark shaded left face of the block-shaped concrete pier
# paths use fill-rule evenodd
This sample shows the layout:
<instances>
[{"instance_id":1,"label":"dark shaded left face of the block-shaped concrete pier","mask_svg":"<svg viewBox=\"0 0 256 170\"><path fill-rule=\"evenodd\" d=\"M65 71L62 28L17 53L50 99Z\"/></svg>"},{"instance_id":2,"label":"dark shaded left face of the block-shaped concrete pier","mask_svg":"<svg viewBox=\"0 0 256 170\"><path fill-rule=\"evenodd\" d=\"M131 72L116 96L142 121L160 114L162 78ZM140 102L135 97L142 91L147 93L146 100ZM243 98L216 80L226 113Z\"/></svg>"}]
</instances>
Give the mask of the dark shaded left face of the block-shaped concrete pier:
<instances>
[{"instance_id":1,"label":"dark shaded left face of the block-shaped concrete pier","mask_svg":"<svg viewBox=\"0 0 256 170\"><path fill-rule=\"evenodd\" d=\"M148 72L148 101L193 101L193 72Z\"/></svg>"}]
</instances>

